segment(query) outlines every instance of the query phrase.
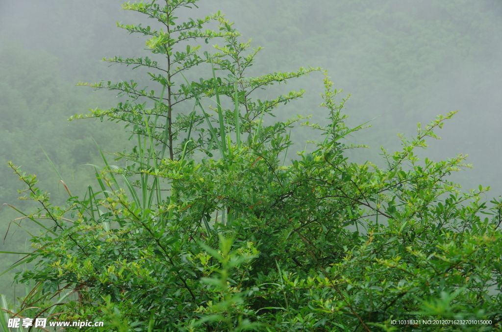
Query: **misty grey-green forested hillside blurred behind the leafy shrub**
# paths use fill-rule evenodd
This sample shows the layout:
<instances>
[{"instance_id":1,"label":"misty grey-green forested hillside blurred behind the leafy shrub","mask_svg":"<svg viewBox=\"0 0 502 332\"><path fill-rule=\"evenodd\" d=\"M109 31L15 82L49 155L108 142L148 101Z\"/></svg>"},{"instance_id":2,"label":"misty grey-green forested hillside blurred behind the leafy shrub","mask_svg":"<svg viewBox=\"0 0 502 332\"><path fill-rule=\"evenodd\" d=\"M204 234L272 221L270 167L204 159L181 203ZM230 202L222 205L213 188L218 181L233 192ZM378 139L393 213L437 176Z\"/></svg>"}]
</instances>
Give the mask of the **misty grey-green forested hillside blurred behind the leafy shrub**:
<instances>
[{"instance_id":1,"label":"misty grey-green forested hillside blurred behind the leafy shrub","mask_svg":"<svg viewBox=\"0 0 502 332\"><path fill-rule=\"evenodd\" d=\"M100 62L102 57L142 55L143 38L114 28L116 21L139 21L121 12L121 3L0 2L0 204L24 207L16 200L21 184L7 167L9 160L37 174L40 187L55 202L62 202L64 189L58 187L42 148L63 178L71 179L67 180L70 190L79 195L93 181L92 169L82 165L100 163L93 139L104 151L130 146L121 124L66 121L75 113L86 113L87 108L116 102L115 95L75 87L77 82L143 80L140 72L107 68ZM501 2L206 0L201 5L201 16L220 10L236 22L243 38L265 47L253 74L320 66L329 71L337 88L351 94L347 103L350 124L381 115L371 128L348 137L351 143L370 147L352 151L354 160L376 161L380 145L390 150L399 147L398 132L411 136L417 122L428 123L438 113L459 109L440 132L443 139L433 142L427 155L445 159L469 154L474 169L452 179L464 188L491 186L489 196L502 194ZM193 12L190 15L195 17ZM320 74L288 86L304 88L307 94L285 117L312 114L314 121L321 121L316 107L321 102L321 86ZM302 130L294 137L298 142L311 139ZM3 206L2 237L10 220L18 217ZM26 234L13 233L14 226L0 250L23 251ZM37 232L31 226L28 230ZM2 254L0 270L19 258ZM12 273L3 275L0 284L10 287L12 277ZM13 297L14 288L7 295Z\"/></svg>"}]
</instances>

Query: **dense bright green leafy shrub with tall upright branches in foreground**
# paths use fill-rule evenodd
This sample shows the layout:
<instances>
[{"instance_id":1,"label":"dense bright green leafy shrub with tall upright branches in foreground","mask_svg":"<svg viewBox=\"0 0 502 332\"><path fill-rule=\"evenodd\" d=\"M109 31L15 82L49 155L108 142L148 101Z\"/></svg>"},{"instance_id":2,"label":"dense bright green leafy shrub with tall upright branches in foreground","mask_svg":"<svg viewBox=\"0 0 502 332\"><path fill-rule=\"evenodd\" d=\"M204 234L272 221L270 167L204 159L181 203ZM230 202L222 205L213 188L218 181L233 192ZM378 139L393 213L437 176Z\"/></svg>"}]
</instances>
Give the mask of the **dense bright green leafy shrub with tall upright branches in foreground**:
<instances>
[{"instance_id":1,"label":"dense bright green leafy shrub with tall upright branches in foreground","mask_svg":"<svg viewBox=\"0 0 502 332\"><path fill-rule=\"evenodd\" d=\"M104 320L102 330L119 331L376 331L408 314L489 318L488 326L443 328L490 330L502 320L502 201L488 208L488 188L463 194L448 181L469 166L463 155L416 155L454 112L402 136L402 150L383 149L383 168L351 163L344 153L355 146L343 141L363 125L345 126L346 99L335 100L327 73L327 126L265 122L303 91L271 100L256 91L320 69L248 77L260 48L249 50L219 13L178 22L178 9L195 3L123 5L164 27L121 25L149 36L154 55L107 61L147 67L160 91L134 81L83 84L126 97L73 119L125 122L138 139L116 153L127 167L103 155L99 188L84 198L68 191L67 205L55 207L36 177L10 163L26 198L40 204L26 218L45 230L18 263L35 263L17 278L33 287L19 314L57 310L58 319ZM217 30L203 28L213 21ZM187 46L212 39L223 45L214 53ZM190 82L199 65L212 75ZM316 148L286 162L301 121Z\"/></svg>"}]
</instances>

